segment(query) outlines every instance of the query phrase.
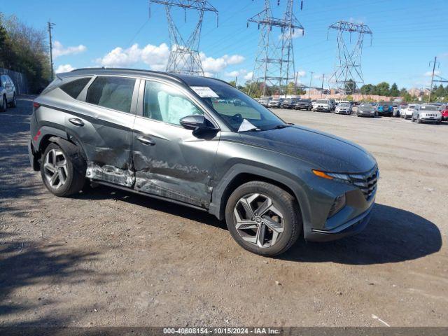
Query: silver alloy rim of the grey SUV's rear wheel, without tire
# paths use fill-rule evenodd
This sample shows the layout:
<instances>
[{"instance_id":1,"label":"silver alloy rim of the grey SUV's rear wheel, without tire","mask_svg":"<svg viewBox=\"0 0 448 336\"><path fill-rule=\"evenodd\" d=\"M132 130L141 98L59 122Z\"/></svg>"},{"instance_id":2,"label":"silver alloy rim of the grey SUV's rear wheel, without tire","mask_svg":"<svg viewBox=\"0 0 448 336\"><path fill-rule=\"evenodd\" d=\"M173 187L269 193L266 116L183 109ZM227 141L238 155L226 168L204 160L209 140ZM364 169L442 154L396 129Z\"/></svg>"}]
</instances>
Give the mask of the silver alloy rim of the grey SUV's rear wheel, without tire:
<instances>
[{"instance_id":1,"label":"silver alloy rim of the grey SUV's rear wheel, without tire","mask_svg":"<svg viewBox=\"0 0 448 336\"><path fill-rule=\"evenodd\" d=\"M69 176L64 153L57 149L49 151L45 156L43 171L51 188L59 189L64 186Z\"/></svg>"}]
</instances>

